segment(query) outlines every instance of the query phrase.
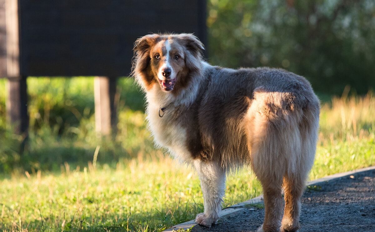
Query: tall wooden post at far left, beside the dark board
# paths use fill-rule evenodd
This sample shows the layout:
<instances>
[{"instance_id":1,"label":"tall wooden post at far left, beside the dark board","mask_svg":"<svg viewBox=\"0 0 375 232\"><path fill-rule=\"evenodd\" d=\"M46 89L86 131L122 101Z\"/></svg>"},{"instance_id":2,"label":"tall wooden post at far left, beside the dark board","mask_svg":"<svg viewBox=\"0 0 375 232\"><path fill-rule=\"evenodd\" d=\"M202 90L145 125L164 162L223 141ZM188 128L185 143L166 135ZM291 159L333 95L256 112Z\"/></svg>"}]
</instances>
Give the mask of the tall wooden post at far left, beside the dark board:
<instances>
[{"instance_id":1,"label":"tall wooden post at far left, beside the dark board","mask_svg":"<svg viewBox=\"0 0 375 232\"><path fill-rule=\"evenodd\" d=\"M7 121L17 134L27 136L29 118L27 113L26 76L20 72L20 47L18 24L18 1L5 1L6 59L7 59Z\"/></svg>"}]
</instances>

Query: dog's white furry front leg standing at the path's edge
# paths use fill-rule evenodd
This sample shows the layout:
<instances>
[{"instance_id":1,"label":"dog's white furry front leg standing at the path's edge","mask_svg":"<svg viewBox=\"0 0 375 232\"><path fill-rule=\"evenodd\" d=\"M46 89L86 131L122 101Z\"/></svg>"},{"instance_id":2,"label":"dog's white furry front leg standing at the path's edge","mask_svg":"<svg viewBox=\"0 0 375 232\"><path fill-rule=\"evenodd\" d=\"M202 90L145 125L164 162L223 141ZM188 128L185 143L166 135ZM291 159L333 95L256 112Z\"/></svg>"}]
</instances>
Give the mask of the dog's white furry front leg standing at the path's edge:
<instances>
[{"instance_id":1,"label":"dog's white furry front leg standing at the path's edge","mask_svg":"<svg viewBox=\"0 0 375 232\"><path fill-rule=\"evenodd\" d=\"M201 181L204 200L204 213L196 215L195 221L210 228L219 219L225 192L225 170L216 163L201 160L195 160L194 167Z\"/></svg>"}]
</instances>

